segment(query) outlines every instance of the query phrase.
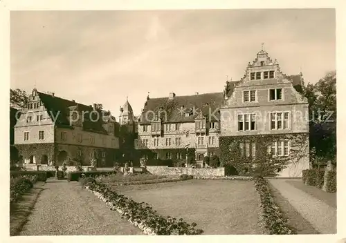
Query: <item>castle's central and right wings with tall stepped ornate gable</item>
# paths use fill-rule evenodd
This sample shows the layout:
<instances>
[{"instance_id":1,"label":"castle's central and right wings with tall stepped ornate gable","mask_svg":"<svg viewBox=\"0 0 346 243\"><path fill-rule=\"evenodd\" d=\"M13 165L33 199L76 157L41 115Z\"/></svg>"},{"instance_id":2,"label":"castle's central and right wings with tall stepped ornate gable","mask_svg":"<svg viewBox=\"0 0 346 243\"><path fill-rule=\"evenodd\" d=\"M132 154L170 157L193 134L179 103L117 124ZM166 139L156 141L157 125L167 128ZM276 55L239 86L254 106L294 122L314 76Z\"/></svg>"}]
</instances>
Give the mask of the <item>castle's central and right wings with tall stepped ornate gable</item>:
<instances>
[{"instance_id":1,"label":"castle's central and right wings with tall stepped ornate gable","mask_svg":"<svg viewBox=\"0 0 346 243\"><path fill-rule=\"evenodd\" d=\"M186 148L194 148L199 166L204 156L218 155L227 163L238 153L250 163L237 169L248 171L260 148L260 140L256 144L253 137L267 139L273 156L292 161L277 172L301 176L309 168L309 108L302 96L303 81L302 73L285 75L276 59L261 50L248 63L244 77L226 81L222 93L148 96L135 148L147 159L182 161ZM233 142L237 152L230 151Z\"/></svg>"}]
</instances>

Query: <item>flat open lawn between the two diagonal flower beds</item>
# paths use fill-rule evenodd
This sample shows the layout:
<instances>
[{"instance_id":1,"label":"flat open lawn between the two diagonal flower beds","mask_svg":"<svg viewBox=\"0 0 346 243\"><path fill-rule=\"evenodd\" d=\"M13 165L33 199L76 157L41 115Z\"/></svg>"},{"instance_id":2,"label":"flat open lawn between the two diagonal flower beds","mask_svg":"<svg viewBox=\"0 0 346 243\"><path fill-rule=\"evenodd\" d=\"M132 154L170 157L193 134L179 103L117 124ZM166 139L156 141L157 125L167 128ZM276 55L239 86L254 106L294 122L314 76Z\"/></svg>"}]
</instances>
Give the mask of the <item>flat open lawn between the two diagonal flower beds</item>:
<instances>
[{"instance_id":1,"label":"flat open lawn between the two diagonal flower beds","mask_svg":"<svg viewBox=\"0 0 346 243\"><path fill-rule=\"evenodd\" d=\"M195 222L206 235L260 234L260 199L251 181L190 179L183 182L113 186L161 215Z\"/></svg>"}]
</instances>

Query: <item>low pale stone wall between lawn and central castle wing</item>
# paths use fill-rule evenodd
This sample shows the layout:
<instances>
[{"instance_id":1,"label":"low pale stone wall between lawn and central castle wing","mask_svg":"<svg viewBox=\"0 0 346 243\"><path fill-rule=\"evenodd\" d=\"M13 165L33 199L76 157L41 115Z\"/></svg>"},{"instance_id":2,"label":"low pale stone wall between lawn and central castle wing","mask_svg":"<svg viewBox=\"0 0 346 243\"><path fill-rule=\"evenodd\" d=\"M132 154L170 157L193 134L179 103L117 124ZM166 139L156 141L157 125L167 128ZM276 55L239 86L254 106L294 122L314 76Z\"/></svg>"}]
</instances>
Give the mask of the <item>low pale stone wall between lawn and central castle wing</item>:
<instances>
[{"instance_id":1,"label":"low pale stone wall between lawn and central castle wing","mask_svg":"<svg viewBox=\"0 0 346 243\"><path fill-rule=\"evenodd\" d=\"M147 171L154 175L196 175L225 176L225 168L185 168L168 166L147 166Z\"/></svg>"}]
</instances>

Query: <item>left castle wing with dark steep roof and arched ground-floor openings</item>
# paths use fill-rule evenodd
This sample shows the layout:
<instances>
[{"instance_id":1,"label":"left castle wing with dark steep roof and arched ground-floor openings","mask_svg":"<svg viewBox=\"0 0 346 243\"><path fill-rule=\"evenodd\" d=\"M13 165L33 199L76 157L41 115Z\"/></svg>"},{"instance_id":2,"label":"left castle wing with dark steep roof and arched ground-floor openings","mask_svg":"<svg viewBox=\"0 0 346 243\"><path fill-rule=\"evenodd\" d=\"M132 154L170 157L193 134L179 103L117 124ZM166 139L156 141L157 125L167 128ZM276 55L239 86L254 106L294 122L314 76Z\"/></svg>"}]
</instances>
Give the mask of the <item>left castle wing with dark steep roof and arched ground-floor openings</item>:
<instances>
[{"instance_id":1,"label":"left castle wing with dark steep roof and arched ground-floor openings","mask_svg":"<svg viewBox=\"0 0 346 243\"><path fill-rule=\"evenodd\" d=\"M15 124L15 146L24 164L113 166L118 123L97 104L86 106L33 89Z\"/></svg>"}]
</instances>

